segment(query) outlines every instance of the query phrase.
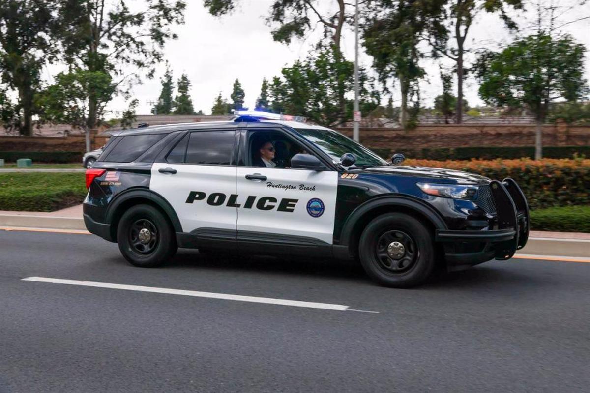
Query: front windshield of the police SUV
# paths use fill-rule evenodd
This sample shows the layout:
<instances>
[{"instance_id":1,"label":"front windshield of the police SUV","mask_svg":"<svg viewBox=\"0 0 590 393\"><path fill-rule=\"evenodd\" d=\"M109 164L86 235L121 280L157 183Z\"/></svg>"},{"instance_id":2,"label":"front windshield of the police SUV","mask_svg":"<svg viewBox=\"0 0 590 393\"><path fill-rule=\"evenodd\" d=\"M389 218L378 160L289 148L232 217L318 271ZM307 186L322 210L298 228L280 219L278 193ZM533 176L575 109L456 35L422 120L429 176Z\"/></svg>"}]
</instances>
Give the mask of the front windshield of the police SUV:
<instances>
[{"instance_id":1,"label":"front windshield of the police SUV","mask_svg":"<svg viewBox=\"0 0 590 393\"><path fill-rule=\"evenodd\" d=\"M312 128L296 128L296 130L307 140L322 149L335 163L340 161L342 154L352 153L356 156L354 166L388 165L387 161L377 156L368 148L336 131L314 130Z\"/></svg>"}]
</instances>

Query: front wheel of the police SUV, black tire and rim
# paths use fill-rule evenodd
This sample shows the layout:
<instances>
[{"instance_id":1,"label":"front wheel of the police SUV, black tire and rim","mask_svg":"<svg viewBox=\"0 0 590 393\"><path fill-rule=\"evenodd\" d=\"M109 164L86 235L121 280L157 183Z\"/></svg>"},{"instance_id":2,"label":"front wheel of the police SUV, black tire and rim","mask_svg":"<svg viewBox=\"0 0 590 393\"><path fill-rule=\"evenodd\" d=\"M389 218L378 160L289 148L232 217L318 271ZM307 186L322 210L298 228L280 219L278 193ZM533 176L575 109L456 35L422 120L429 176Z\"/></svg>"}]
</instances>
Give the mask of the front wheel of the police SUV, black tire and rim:
<instances>
[{"instance_id":1,"label":"front wheel of the police SUV, black tire and rim","mask_svg":"<svg viewBox=\"0 0 590 393\"><path fill-rule=\"evenodd\" d=\"M431 231L418 219L403 213L382 214L363 230L359 257L367 275L379 284L410 288L432 274L434 240Z\"/></svg>"}]
</instances>

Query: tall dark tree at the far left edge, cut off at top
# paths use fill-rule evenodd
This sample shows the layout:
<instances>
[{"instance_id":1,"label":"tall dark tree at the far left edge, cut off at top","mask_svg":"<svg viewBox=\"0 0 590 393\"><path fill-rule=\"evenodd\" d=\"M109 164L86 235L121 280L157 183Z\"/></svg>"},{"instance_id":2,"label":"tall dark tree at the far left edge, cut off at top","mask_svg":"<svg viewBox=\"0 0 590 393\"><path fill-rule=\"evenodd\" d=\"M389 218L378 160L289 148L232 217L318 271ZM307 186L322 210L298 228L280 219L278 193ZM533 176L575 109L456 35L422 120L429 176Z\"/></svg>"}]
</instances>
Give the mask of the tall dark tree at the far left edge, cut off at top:
<instances>
[{"instance_id":1,"label":"tall dark tree at the far left edge, cut off at top","mask_svg":"<svg viewBox=\"0 0 590 393\"><path fill-rule=\"evenodd\" d=\"M47 0L0 0L0 76L18 92L11 106L11 128L32 135L37 114L35 94L41 90L41 68L54 59L53 2Z\"/></svg>"}]
</instances>

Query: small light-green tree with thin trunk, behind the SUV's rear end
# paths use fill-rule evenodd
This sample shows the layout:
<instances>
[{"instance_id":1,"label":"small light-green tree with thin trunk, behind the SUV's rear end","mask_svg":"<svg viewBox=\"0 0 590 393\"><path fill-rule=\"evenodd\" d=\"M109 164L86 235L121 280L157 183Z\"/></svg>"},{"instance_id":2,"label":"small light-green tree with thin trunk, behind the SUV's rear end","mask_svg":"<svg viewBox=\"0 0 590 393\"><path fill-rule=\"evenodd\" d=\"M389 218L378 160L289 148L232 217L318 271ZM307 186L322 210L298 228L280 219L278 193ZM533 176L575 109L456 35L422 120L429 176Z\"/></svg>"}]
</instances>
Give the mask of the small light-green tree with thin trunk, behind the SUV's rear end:
<instances>
[{"instance_id":1,"label":"small light-green tree with thin trunk, behind the SUV's rear end","mask_svg":"<svg viewBox=\"0 0 590 393\"><path fill-rule=\"evenodd\" d=\"M116 85L106 72L80 69L60 72L55 76L55 83L37 97L37 103L43 108L43 120L71 124L84 130L86 151L90 151L90 95L94 94L95 102L100 103L94 110L101 119L107 99L112 97L115 89Z\"/></svg>"}]
</instances>

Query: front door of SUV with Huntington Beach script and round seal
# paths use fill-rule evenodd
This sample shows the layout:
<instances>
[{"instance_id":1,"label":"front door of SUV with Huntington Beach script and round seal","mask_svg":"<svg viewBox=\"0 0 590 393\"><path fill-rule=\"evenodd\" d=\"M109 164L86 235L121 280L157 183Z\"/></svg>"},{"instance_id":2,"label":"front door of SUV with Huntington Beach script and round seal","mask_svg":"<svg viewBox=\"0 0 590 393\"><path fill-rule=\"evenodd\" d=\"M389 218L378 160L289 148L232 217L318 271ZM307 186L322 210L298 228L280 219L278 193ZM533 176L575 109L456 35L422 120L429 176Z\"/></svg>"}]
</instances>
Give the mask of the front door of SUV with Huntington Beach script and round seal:
<instances>
[{"instance_id":1,"label":"front door of SUV with Huntington Beach script and round seal","mask_svg":"<svg viewBox=\"0 0 590 393\"><path fill-rule=\"evenodd\" d=\"M240 154L245 159L240 158L237 169L237 192L243 201L238 208L238 243L247 238L332 245L337 171L253 166L253 136L267 132L242 133L245 143L240 143ZM270 135L294 141L284 131Z\"/></svg>"}]
</instances>

